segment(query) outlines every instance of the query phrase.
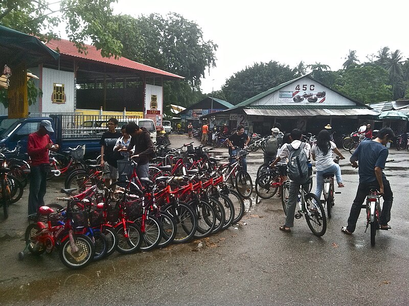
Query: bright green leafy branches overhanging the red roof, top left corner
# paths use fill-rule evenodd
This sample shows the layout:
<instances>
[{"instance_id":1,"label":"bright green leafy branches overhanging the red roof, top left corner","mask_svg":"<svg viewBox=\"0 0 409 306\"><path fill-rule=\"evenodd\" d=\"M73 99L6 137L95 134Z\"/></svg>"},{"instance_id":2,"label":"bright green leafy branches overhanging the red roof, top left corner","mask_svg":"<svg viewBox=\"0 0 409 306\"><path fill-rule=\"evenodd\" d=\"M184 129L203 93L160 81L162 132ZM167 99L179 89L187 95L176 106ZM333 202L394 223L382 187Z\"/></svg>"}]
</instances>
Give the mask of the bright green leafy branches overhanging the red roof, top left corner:
<instances>
[{"instance_id":1,"label":"bright green leafy branches overhanging the red roof, top left corner","mask_svg":"<svg viewBox=\"0 0 409 306\"><path fill-rule=\"evenodd\" d=\"M113 35L111 4L118 0L5 0L0 2L0 24L42 40L57 38L55 28L66 23L66 33L79 52L86 52L84 41L92 40L102 56L121 56L122 44ZM59 9L53 6L59 3Z\"/></svg>"}]
</instances>

